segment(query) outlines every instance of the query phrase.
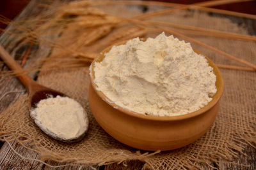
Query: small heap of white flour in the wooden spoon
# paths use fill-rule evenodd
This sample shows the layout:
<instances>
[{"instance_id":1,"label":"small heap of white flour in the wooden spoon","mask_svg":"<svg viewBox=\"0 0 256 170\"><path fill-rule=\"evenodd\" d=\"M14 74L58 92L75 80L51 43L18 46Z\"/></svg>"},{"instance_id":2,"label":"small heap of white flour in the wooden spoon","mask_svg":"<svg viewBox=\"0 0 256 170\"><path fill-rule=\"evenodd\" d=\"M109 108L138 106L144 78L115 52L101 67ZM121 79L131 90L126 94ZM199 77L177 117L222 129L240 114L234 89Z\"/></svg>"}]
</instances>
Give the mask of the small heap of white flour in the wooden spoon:
<instances>
[{"instance_id":1,"label":"small heap of white flour in the wooden spoon","mask_svg":"<svg viewBox=\"0 0 256 170\"><path fill-rule=\"evenodd\" d=\"M83 107L70 97L49 97L41 100L31 117L36 124L62 139L73 139L81 136L88 129L88 117Z\"/></svg>"}]
</instances>

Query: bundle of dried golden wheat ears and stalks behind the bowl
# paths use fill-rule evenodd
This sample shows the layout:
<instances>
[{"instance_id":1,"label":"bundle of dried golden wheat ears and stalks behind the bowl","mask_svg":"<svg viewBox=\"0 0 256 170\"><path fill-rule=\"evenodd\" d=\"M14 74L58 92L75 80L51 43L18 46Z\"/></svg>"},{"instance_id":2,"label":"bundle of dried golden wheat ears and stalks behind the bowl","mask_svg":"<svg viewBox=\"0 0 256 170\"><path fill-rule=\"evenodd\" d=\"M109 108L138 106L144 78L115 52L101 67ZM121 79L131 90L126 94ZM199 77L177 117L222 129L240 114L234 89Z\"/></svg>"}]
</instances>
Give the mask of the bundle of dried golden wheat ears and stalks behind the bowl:
<instances>
[{"instance_id":1,"label":"bundle of dried golden wheat ears and stalks behind the bowl","mask_svg":"<svg viewBox=\"0 0 256 170\"><path fill-rule=\"evenodd\" d=\"M248 67L239 66L227 66L223 64L218 64L219 67L225 69L238 69L243 71L256 71L255 64L247 62L243 59L238 59L228 53L218 50L212 46L206 45L196 39L190 38L186 35L200 35L200 36L215 36L219 38L232 38L239 39L243 41L256 41L255 36L247 36L242 34L234 34L225 31L218 31L212 29L205 29L201 27L193 27L190 25L179 25L171 24L167 22L159 21L145 21L145 19L166 15L173 13L175 11L187 10L187 9L197 9L205 10L208 9L207 6L214 3L220 2L205 2L193 5L181 5L174 3L160 3L160 2L139 2L139 1L122 1L122 4L144 4L144 5L160 5L172 8L167 8L164 10L154 11L152 13L145 13L133 18L120 18L113 15L108 15L104 11L97 8L100 5L117 5L120 2L116 1L76 1L67 4L60 5L60 8L54 9L55 13L49 12L42 15L43 17L51 16L49 20L44 18L37 18L37 22L42 22L38 27L33 29L26 27L17 26L20 31L26 31L27 33L23 35L22 39L30 41L31 43L38 43L38 38L44 41L46 45L52 46L54 48L59 48L44 62L52 62L52 67L54 69L61 67L80 67L83 64L88 65L97 56L100 50L106 48L107 46L116 43L118 41L125 41L127 39L141 37L147 34L148 29L154 31L165 31L169 32L179 38L186 39L189 42L196 43L197 45L208 48L213 52L219 53L229 59L236 60L241 64ZM216 11L221 13L221 11ZM238 15L237 13L228 13L230 15ZM244 15L241 15L244 17ZM250 17L249 15L246 17ZM41 20L40 20L41 19ZM35 19L34 19L35 21ZM10 20L0 17L0 22L8 23ZM31 23L32 20L26 21ZM29 24L28 24L29 25ZM48 29L59 28L62 29L62 35L57 41L52 41L50 39L41 37L40 34ZM58 29L56 29L58 30ZM65 32L68 32L65 34ZM53 31L54 33L54 31ZM52 33L52 34L53 34ZM72 37L73 41L71 41ZM66 43L63 43L63 42ZM68 55L67 55L68 54ZM44 69L51 69L47 67ZM42 68L35 66L31 69L27 69L26 72L38 71Z\"/></svg>"}]
</instances>

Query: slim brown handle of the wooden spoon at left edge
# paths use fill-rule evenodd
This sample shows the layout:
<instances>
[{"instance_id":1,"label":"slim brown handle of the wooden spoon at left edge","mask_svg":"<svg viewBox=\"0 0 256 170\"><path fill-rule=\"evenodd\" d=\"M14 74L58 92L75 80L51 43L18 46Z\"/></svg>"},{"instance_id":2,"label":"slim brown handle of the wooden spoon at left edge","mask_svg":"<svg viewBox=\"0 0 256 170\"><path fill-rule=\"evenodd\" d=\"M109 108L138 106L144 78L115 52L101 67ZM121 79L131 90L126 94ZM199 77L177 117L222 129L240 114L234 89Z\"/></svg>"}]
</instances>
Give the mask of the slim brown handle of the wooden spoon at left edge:
<instances>
[{"instance_id":1,"label":"slim brown handle of the wooden spoon at left edge","mask_svg":"<svg viewBox=\"0 0 256 170\"><path fill-rule=\"evenodd\" d=\"M24 70L22 67L17 64L17 62L13 59L13 57L4 50L3 46L0 45L0 58L3 59L3 61L6 63L10 69L15 71L15 73L18 73L17 76L19 80L22 82L22 84L26 87L27 90L30 89L30 85L34 83L35 81L32 80L28 74L24 74Z\"/></svg>"}]
</instances>

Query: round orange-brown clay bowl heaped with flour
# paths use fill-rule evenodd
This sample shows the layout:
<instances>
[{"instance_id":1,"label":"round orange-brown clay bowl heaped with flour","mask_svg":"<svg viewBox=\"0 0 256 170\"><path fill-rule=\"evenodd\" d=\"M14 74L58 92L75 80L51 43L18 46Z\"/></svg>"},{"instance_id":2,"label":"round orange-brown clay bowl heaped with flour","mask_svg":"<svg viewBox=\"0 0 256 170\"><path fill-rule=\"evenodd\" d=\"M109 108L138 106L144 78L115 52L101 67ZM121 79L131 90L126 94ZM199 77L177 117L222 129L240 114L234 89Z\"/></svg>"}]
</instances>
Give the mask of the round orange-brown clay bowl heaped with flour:
<instances>
[{"instance_id":1,"label":"round orange-brown clay bowl heaped with flour","mask_svg":"<svg viewBox=\"0 0 256 170\"><path fill-rule=\"evenodd\" d=\"M216 74L217 92L212 101L204 108L186 115L173 117L157 117L142 115L126 110L112 103L102 92L96 90L93 79L94 63L104 58L111 46L103 50L90 67L89 103L93 116L100 126L116 140L125 145L141 150L173 150L189 145L207 132L213 124L219 108L219 100L223 93L221 73L207 57L209 66Z\"/></svg>"}]
</instances>

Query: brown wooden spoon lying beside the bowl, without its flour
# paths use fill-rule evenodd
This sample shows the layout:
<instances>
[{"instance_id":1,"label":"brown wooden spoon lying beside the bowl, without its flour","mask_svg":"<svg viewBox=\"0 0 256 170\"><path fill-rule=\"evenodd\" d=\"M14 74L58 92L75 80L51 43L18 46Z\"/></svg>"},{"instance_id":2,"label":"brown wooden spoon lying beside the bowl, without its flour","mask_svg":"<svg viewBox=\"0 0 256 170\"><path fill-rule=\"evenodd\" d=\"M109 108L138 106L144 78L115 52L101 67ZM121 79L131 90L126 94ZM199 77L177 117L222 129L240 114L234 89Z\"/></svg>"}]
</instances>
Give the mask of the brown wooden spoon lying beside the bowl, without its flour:
<instances>
[{"instance_id":1,"label":"brown wooden spoon lying beside the bowl, without its flour","mask_svg":"<svg viewBox=\"0 0 256 170\"><path fill-rule=\"evenodd\" d=\"M38 102L40 102L42 99L47 99L48 97L57 97L57 96L65 97L66 96L65 94L63 94L61 92L52 90L48 87L44 87L44 86L36 83L36 81L32 80L28 76L28 74L22 74L22 73L24 73L24 70L22 69L22 67L20 67L19 64L17 64L17 62L13 59L13 57L10 56L10 54L8 52L6 52L6 50L4 50L3 46L1 46L1 45L0 45L0 57L1 57L1 59L4 60L6 65L8 67L10 67L10 69L15 71L16 73L21 73L21 74L17 74L17 76L18 76L19 80L22 82L22 84L24 85L24 87L26 87L26 90L28 91L30 112L33 108L36 108L36 104ZM84 111L84 113L86 113L86 111ZM33 118L34 122L36 123L35 117L31 116L31 118ZM88 122L87 114L86 114L86 119L87 119L86 122ZM88 126L87 126L87 128L85 129L83 134L81 134L77 138L63 139L60 136L58 136L57 134L54 134L53 132L49 131L49 129L42 126L42 124L36 123L36 125L38 125L38 127L40 127L40 129L42 131L44 131L47 135L51 136L52 138L58 139L60 141L68 142L68 143L71 143L74 141L79 141L80 139L82 139L84 137L84 135L86 134L86 131L88 130Z\"/></svg>"}]
</instances>

